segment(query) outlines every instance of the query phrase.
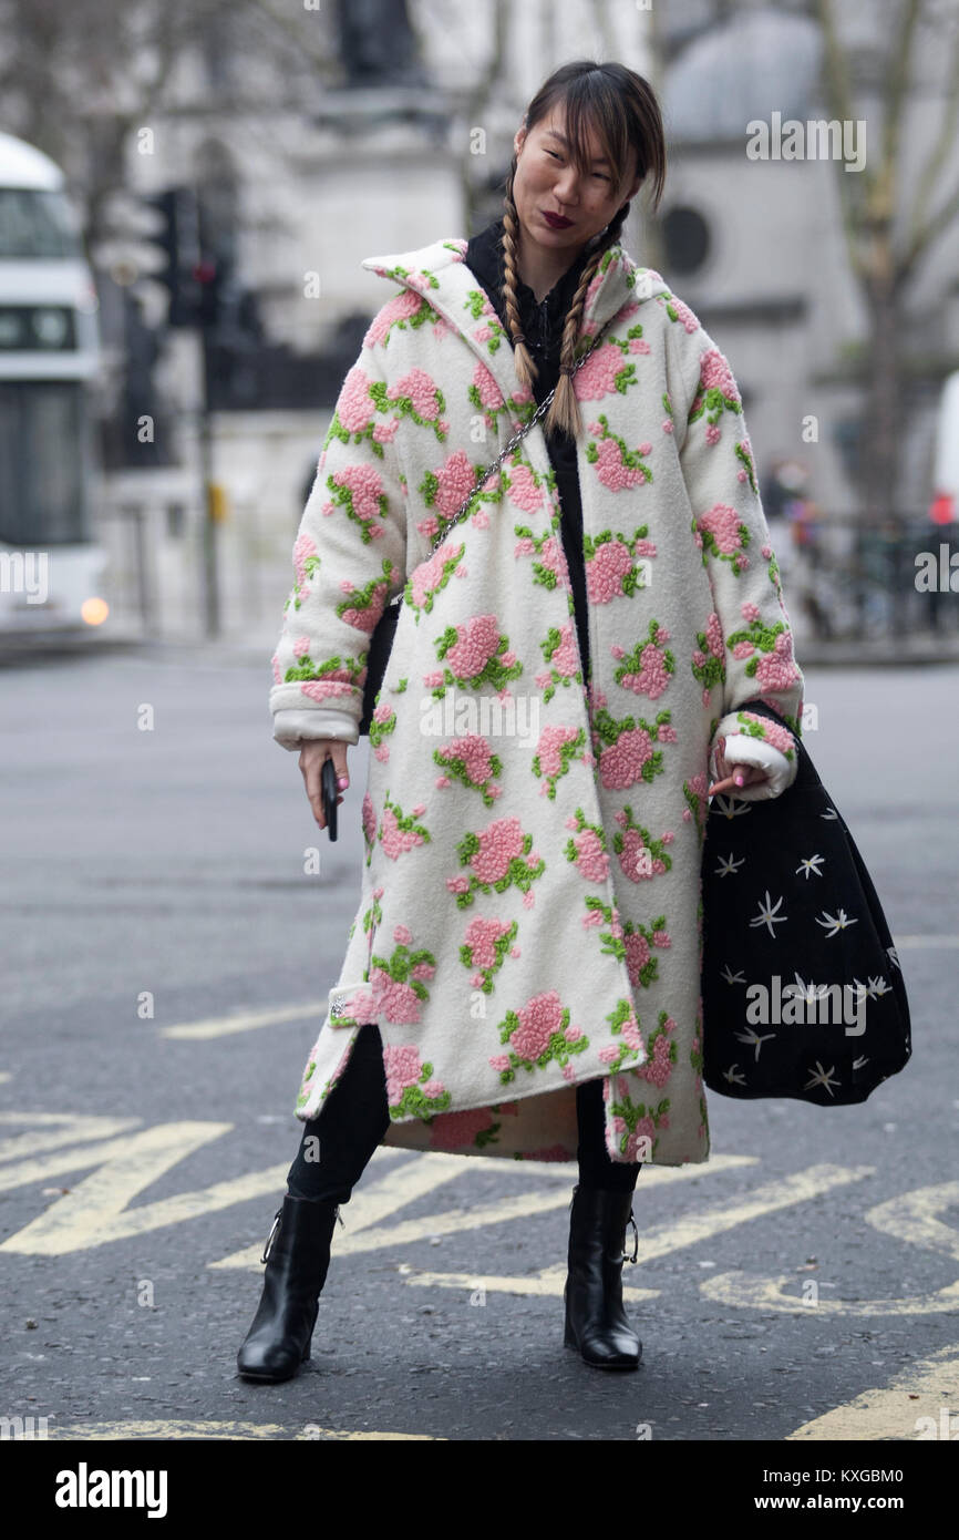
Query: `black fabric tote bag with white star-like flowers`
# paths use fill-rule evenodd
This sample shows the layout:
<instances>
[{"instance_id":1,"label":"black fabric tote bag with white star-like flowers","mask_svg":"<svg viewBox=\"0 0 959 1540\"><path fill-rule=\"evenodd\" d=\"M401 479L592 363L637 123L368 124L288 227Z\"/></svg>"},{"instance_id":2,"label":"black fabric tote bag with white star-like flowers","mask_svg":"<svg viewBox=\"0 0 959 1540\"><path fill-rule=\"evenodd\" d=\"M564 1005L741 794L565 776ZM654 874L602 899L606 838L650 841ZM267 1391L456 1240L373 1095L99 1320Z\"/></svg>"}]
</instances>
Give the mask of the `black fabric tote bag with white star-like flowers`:
<instances>
[{"instance_id":1,"label":"black fabric tote bag with white star-like flowers","mask_svg":"<svg viewBox=\"0 0 959 1540\"><path fill-rule=\"evenodd\" d=\"M765 702L743 710L782 716ZM911 1055L910 1007L876 889L800 739L796 779L714 796L702 850L703 1069L723 1096L865 1101Z\"/></svg>"}]
</instances>

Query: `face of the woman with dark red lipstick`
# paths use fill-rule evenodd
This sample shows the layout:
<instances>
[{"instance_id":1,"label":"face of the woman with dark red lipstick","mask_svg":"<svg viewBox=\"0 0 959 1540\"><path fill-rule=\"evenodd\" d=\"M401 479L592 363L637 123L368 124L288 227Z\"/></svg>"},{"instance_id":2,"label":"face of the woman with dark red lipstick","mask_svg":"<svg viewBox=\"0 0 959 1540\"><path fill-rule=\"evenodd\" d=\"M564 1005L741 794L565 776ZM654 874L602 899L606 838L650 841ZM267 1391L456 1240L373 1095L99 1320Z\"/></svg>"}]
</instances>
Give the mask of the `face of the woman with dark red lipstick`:
<instances>
[{"instance_id":1,"label":"face of the woman with dark red lipstick","mask_svg":"<svg viewBox=\"0 0 959 1540\"><path fill-rule=\"evenodd\" d=\"M565 139L565 106L557 103L531 129L520 128L513 140L517 166L513 177L513 200L523 237L553 253L565 253L570 262L591 236L606 228L613 216L642 185L642 177L617 186L610 162L593 128L586 129L588 169L580 172ZM636 168L636 154L631 169ZM562 225L546 216L562 216Z\"/></svg>"}]
</instances>

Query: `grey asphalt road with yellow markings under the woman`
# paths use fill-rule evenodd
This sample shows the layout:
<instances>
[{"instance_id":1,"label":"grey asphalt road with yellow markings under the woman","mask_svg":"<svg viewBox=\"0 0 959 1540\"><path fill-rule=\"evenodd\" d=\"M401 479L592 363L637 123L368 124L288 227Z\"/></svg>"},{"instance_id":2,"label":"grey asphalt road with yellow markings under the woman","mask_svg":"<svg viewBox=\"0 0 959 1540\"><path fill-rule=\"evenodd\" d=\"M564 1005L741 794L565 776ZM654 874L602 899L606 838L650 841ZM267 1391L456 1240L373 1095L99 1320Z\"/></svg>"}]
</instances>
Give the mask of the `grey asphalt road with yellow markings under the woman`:
<instances>
[{"instance_id":1,"label":"grey asphalt road with yellow markings under the woman","mask_svg":"<svg viewBox=\"0 0 959 1540\"><path fill-rule=\"evenodd\" d=\"M272 1388L234 1358L354 912L366 745L329 847L268 688L268 659L202 653L0 668L0 1417L49 1438L807 1441L942 1437L945 1409L959 1434L959 668L807 670L807 745L887 909L914 1056L854 1109L711 1095L713 1158L642 1172L640 1371L562 1346L573 1166L380 1149L312 1361Z\"/></svg>"}]
</instances>

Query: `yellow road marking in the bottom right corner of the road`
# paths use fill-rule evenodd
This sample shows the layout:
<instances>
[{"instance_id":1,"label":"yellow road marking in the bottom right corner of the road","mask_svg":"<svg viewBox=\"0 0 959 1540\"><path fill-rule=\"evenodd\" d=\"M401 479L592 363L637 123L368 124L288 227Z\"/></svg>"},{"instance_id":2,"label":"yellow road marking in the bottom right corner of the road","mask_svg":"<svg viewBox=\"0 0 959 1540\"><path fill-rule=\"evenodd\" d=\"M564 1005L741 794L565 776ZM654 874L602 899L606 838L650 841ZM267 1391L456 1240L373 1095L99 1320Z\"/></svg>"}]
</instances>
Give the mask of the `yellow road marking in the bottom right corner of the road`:
<instances>
[{"instance_id":1,"label":"yellow road marking in the bottom right corner of the road","mask_svg":"<svg viewBox=\"0 0 959 1540\"><path fill-rule=\"evenodd\" d=\"M887 1389L864 1391L853 1401L834 1406L831 1412L804 1423L796 1432L788 1434L788 1438L794 1441L917 1440L944 1435L954 1438L959 1435L957 1354L959 1343L941 1348L939 1352L904 1369Z\"/></svg>"}]
</instances>

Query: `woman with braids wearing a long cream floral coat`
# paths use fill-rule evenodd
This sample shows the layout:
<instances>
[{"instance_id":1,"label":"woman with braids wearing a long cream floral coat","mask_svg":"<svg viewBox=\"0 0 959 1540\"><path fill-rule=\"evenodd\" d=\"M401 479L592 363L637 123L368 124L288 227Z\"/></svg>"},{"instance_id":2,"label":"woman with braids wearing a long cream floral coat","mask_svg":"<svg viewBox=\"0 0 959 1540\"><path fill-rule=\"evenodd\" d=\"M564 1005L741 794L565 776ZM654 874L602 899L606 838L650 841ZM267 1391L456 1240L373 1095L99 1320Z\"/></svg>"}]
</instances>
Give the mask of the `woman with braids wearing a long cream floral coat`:
<instances>
[{"instance_id":1,"label":"woman with braids wearing a long cream floral coat","mask_svg":"<svg viewBox=\"0 0 959 1540\"><path fill-rule=\"evenodd\" d=\"M380 1143L577 1160L565 1341L637 1366L622 1263L640 1163L708 1158L708 796L776 796L796 773L791 733L742 711L765 699L799 733L736 382L619 245L640 185L662 194L653 91L565 65L514 149L502 220L363 263L400 288L294 547L271 708L320 829L320 767L349 784L369 633L405 594L363 893L300 1087L249 1378L308 1355L339 1206ZM553 385L543 427L477 480Z\"/></svg>"}]
</instances>

